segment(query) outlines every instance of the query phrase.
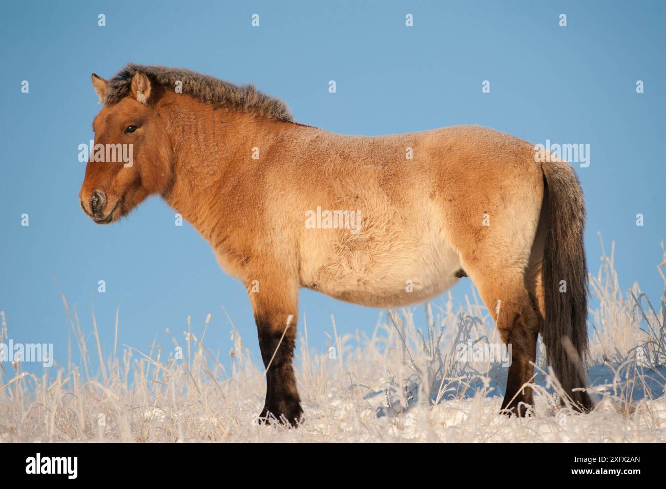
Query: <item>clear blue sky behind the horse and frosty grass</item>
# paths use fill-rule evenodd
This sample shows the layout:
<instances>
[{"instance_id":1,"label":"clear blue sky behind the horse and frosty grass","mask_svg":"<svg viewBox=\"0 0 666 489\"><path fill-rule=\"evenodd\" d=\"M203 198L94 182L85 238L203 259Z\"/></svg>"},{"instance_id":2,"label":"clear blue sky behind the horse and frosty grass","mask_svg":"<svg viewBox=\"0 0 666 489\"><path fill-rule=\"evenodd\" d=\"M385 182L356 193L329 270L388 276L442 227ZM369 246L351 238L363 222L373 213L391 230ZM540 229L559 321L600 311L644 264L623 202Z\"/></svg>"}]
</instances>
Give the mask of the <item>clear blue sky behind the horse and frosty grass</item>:
<instances>
[{"instance_id":1,"label":"clear blue sky behind the horse and frosty grass","mask_svg":"<svg viewBox=\"0 0 666 489\"><path fill-rule=\"evenodd\" d=\"M166 328L183 331L191 315L200 333L211 313L206 345L224 358L224 306L260 363L244 288L224 275L193 228L174 226L174 212L159 198L112 226L93 224L79 208L85 164L77 148L93 138L100 108L90 75L109 78L128 62L252 82L285 100L299 122L346 134L481 124L533 143L589 144L589 167L576 166L587 200L589 267L599 266L601 232L608 248L616 242L621 286L639 281L656 305L666 221L659 150L666 133L666 3L412 4L5 2L0 310L9 337L53 343L63 365L71 329L62 292L77 307L89 347L94 308L106 354L122 301L119 343L147 351L157 335L169 348ZM98 26L100 13L105 27ZM253 13L260 27L251 26ZM408 13L414 27L405 25ZM559 26L561 13L567 27ZM21 92L24 80L28 93ZM637 80L645 84L642 94ZM29 214L27 227L22 214ZM101 279L106 293L97 292ZM469 279L460 281L454 297L471 288ZM331 314L338 332L350 333L371 331L379 312L302 291L299 329L306 315L316 349L328 342Z\"/></svg>"}]
</instances>

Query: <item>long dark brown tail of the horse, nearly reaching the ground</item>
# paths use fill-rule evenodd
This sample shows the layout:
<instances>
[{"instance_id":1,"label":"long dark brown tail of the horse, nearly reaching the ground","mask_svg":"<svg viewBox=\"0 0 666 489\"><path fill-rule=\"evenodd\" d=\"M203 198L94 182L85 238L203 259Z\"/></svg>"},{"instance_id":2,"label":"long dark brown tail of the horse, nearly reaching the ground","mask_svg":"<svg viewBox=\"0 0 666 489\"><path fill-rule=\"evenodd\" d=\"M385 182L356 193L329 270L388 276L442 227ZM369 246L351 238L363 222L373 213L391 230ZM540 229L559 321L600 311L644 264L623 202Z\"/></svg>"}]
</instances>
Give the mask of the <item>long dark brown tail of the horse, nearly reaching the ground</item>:
<instances>
[{"instance_id":1,"label":"long dark brown tail of the horse, nearly reaching the ground","mask_svg":"<svg viewBox=\"0 0 666 489\"><path fill-rule=\"evenodd\" d=\"M548 232L543 252L545 320L541 329L547 362L576 408L594 407L587 387L587 265L583 232L585 201L567 162L544 162ZM563 282L564 281L564 282Z\"/></svg>"}]
</instances>

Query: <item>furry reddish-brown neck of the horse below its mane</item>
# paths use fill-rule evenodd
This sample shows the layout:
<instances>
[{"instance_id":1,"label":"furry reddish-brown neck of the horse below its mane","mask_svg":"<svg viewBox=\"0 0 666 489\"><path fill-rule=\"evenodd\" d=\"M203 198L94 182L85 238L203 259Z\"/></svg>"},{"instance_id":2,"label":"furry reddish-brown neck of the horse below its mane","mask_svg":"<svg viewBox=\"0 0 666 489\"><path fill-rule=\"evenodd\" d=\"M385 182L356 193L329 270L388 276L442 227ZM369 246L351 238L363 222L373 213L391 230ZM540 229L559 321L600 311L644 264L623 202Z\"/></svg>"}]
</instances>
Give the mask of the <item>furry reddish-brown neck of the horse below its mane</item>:
<instances>
[{"instance_id":1,"label":"furry reddish-brown neck of the horse below its mane","mask_svg":"<svg viewBox=\"0 0 666 489\"><path fill-rule=\"evenodd\" d=\"M172 184L163 198L210 240L224 226L220 216L234 212L238 194L252 192L252 148L264 151L294 124L216 108L183 94L165 94L156 109L174 152Z\"/></svg>"}]
</instances>

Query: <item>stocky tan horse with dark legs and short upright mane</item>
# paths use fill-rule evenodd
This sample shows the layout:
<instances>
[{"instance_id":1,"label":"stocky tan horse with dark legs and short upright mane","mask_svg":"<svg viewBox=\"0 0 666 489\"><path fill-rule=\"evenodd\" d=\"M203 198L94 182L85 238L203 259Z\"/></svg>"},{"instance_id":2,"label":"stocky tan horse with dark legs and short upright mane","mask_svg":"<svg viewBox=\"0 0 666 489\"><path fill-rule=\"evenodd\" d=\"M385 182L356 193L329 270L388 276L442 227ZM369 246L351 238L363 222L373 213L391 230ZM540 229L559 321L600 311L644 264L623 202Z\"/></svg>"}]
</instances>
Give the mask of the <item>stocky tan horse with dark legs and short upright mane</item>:
<instances>
[{"instance_id":1,"label":"stocky tan horse with dark legs and short upright mane","mask_svg":"<svg viewBox=\"0 0 666 489\"><path fill-rule=\"evenodd\" d=\"M539 332L563 391L579 410L593 406L575 390L585 387L585 205L567 162L541 162L532 144L478 126L332 134L251 85L184 69L127 65L93 86L104 103L96 148L131 144L133 162L91 158L81 207L107 224L159 194L210 242L250 295L267 367L262 416L302 414L300 287L391 308L463 275L511 343L505 412L532 403L523 384Z\"/></svg>"}]
</instances>

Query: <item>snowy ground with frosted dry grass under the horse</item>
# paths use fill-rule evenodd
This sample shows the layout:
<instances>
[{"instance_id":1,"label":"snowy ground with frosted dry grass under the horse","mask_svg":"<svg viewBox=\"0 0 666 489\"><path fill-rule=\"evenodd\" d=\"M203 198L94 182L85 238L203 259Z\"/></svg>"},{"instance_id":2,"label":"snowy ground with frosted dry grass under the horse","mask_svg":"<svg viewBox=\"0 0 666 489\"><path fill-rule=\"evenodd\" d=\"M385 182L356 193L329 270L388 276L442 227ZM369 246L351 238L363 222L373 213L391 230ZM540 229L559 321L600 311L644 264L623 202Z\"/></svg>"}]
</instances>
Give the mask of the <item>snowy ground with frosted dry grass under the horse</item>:
<instances>
[{"instance_id":1,"label":"snowy ground with frosted dry grass under the horse","mask_svg":"<svg viewBox=\"0 0 666 489\"><path fill-rule=\"evenodd\" d=\"M336 335L324 352L310 351L300 331L296 370L306 418L298 429L256 423L264 369L231 325L234 347L224 361L186 331L175 338L184 359L128 348L90 377L79 368L49 378L5 368L0 440L663 442L666 297L655 310L638 285L620 291L612 253L591 277L591 293L588 372L597 408L590 414L560 407L543 355L533 415L498 413L505 367L456 355L460 343L499 341L472 294L462 307L449 300L387 311L372 336ZM425 314L424 327L416 327L416 314ZM0 340L7 338L2 319Z\"/></svg>"}]
</instances>

